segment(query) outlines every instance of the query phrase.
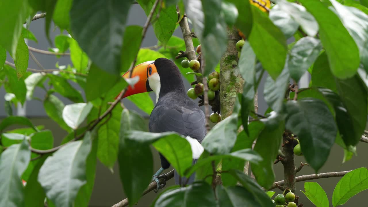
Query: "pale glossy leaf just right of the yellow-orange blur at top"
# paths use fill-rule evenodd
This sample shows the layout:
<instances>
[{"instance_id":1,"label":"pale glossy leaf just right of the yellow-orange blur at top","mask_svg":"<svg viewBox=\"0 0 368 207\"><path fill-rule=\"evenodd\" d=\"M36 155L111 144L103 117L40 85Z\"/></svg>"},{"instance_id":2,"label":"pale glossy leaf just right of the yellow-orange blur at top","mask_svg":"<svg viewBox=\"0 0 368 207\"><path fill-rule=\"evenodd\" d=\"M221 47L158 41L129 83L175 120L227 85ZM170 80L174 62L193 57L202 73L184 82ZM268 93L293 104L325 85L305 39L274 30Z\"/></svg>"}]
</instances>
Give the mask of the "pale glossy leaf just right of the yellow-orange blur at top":
<instances>
[{"instance_id":1,"label":"pale glossy leaf just right of the yellow-orange blur at top","mask_svg":"<svg viewBox=\"0 0 368 207\"><path fill-rule=\"evenodd\" d=\"M269 18L273 24L281 29L286 38L293 36L299 27L298 22L296 22L288 12L283 11L279 4L272 7Z\"/></svg>"}]
</instances>

